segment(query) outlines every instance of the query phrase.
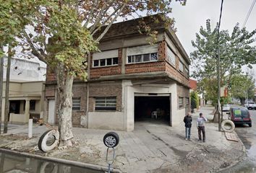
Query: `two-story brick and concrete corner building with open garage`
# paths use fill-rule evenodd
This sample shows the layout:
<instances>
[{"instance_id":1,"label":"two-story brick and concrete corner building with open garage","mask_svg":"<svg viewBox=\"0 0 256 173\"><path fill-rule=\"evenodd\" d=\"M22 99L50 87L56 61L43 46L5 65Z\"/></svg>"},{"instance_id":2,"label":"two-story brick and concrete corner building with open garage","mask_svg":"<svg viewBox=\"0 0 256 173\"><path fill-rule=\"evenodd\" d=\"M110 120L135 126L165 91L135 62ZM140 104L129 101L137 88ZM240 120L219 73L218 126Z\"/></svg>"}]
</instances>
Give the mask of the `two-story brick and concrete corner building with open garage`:
<instances>
[{"instance_id":1,"label":"two-story brick and concrete corner building with open garage","mask_svg":"<svg viewBox=\"0 0 256 173\"><path fill-rule=\"evenodd\" d=\"M150 45L137 30L141 19L111 26L101 40L101 52L88 59L88 81L74 81L73 125L85 128L134 130L137 120L177 125L189 111L189 57L171 27L145 17L158 31ZM46 79L46 117L56 123L56 81ZM156 111L158 118L151 117Z\"/></svg>"}]
</instances>

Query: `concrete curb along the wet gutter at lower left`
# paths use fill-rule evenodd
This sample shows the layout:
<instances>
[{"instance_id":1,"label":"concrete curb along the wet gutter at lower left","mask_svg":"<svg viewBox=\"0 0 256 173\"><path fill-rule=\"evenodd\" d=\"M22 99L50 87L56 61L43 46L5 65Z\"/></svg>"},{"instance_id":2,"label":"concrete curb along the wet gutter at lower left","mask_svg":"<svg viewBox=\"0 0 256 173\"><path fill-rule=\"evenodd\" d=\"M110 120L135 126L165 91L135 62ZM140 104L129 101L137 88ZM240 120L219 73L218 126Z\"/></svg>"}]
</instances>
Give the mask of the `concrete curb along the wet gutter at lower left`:
<instances>
[{"instance_id":1,"label":"concrete curb along the wet gutter at lower left","mask_svg":"<svg viewBox=\"0 0 256 173\"><path fill-rule=\"evenodd\" d=\"M86 163L82 163L79 161L59 159L59 158L54 158L54 157L49 157L49 156L40 156L37 154L29 154L26 152L13 151L10 149L5 149L5 148L0 148L0 152L7 153L7 154L16 154L18 156L27 156L27 157L30 157L33 159L40 159L43 161L53 161L53 162L56 162L59 164L68 164L68 165L74 166L74 167L82 167L82 168L93 169L93 170L97 170L97 171L108 172L108 167L103 167L103 166L96 165L96 164L86 164ZM122 173L121 170L119 170L119 169L112 169L111 172Z\"/></svg>"}]
</instances>

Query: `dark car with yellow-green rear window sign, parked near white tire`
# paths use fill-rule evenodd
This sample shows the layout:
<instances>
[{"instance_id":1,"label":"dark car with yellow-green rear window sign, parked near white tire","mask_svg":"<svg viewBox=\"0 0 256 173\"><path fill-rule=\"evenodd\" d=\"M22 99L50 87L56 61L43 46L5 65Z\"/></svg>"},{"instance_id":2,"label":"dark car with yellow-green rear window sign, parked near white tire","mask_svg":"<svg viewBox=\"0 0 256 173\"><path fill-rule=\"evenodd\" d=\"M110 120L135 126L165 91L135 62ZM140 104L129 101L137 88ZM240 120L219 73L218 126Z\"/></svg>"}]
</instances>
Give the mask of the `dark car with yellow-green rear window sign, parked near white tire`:
<instances>
[{"instance_id":1,"label":"dark car with yellow-green rear window sign, parked near white tire","mask_svg":"<svg viewBox=\"0 0 256 173\"><path fill-rule=\"evenodd\" d=\"M236 124L248 124L252 127L252 119L249 110L246 107L231 107L229 112L229 120Z\"/></svg>"}]
</instances>

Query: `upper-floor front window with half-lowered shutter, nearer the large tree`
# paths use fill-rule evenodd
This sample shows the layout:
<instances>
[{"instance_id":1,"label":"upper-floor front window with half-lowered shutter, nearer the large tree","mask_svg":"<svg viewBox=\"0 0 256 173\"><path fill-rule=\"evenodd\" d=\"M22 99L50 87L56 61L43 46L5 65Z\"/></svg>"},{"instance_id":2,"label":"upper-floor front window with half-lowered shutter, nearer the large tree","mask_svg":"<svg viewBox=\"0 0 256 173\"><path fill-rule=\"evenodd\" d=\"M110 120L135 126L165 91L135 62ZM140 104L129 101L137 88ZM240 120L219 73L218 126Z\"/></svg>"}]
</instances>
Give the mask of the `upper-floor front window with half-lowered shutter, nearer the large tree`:
<instances>
[{"instance_id":1,"label":"upper-floor front window with half-lowered shutter, nearer the large tree","mask_svg":"<svg viewBox=\"0 0 256 173\"><path fill-rule=\"evenodd\" d=\"M118 50L106 50L93 53L93 67L116 66L119 63Z\"/></svg>"}]
</instances>

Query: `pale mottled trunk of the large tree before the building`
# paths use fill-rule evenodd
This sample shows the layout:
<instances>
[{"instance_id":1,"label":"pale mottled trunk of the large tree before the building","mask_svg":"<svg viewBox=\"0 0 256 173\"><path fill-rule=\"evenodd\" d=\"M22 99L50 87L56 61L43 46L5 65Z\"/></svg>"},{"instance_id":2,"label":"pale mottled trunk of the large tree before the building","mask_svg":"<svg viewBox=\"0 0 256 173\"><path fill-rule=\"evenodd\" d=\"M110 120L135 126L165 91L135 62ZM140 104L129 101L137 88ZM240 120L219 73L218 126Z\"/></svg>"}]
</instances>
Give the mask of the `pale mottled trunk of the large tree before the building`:
<instances>
[{"instance_id":1,"label":"pale mottled trunk of the large tree before the building","mask_svg":"<svg viewBox=\"0 0 256 173\"><path fill-rule=\"evenodd\" d=\"M60 146L72 146L72 85L73 76L68 74L63 64L57 67L57 87L59 94Z\"/></svg>"}]
</instances>

